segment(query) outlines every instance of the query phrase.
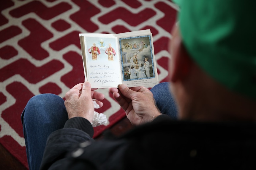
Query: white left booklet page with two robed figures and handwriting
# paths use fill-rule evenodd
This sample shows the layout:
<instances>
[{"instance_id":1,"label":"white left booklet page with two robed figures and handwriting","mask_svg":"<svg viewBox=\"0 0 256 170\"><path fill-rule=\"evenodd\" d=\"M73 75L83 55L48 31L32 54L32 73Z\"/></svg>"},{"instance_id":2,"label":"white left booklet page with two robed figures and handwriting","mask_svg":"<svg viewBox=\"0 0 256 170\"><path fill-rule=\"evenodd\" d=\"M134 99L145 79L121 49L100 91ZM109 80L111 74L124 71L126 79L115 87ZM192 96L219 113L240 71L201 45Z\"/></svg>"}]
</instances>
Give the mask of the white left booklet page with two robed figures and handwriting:
<instances>
[{"instance_id":1,"label":"white left booklet page with two robed figures and handwriting","mask_svg":"<svg viewBox=\"0 0 256 170\"><path fill-rule=\"evenodd\" d=\"M108 88L121 84L117 39L111 35L86 34L84 46L87 81L91 87Z\"/></svg>"}]
</instances>

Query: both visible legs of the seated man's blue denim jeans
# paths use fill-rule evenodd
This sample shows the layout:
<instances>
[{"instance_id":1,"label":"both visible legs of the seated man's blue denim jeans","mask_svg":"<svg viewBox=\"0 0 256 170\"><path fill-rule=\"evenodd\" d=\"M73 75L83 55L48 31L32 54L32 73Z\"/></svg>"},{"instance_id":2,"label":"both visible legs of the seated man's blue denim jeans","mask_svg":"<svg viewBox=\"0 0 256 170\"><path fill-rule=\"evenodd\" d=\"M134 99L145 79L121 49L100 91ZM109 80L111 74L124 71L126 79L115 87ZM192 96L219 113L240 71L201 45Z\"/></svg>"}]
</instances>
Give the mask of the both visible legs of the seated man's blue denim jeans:
<instances>
[{"instance_id":1,"label":"both visible legs of the seated man's blue denim jeans","mask_svg":"<svg viewBox=\"0 0 256 170\"><path fill-rule=\"evenodd\" d=\"M176 119L177 109L169 93L169 83L160 83L153 87L151 92L162 114ZM48 136L63 128L67 120L64 100L58 95L40 94L28 101L21 114L21 122L29 169L39 169Z\"/></svg>"}]
</instances>

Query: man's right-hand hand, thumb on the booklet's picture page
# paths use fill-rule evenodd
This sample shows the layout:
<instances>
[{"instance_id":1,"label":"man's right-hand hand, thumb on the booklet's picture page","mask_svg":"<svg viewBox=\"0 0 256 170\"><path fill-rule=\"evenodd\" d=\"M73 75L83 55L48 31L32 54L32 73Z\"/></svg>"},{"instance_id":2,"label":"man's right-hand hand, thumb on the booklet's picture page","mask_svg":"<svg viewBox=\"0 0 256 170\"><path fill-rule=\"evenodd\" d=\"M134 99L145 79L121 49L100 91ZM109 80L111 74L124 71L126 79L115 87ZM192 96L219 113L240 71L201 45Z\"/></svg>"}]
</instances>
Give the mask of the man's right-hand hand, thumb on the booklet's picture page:
<instances>
[{"instance_id":1,"label":"man's right-hand hand, thumb on the booklet's picture page","mask_svg":"<svg viewBox=\"0 0 256 170\"><path fill-rule=\"evenodd\" d=\"M143 86L127 88L124 84L109 88L110 93L124 109L127 118L134 125L151 122L161 113L155 106L153 94Z\"/></svg>"}]
</instances>

